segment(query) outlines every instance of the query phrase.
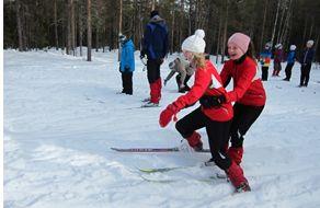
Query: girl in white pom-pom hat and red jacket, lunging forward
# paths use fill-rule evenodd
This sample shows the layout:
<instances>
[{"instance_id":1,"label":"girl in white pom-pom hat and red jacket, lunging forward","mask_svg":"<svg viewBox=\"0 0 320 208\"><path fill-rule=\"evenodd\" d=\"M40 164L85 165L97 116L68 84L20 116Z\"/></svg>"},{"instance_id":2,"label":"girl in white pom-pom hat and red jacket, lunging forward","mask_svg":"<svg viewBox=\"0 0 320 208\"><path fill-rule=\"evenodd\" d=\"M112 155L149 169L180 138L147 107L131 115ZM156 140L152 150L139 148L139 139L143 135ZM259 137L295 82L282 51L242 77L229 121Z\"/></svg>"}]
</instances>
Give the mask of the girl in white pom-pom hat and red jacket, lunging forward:
<instances>
[{"instance_id":1,"label":"girl in white pom-pom hat and red jacket, lunging forward","mask_svg":"<svg viewBox=\"0 0 320 208\"><path fill-rule=\"evenodd\" d=\"M175 128L187 140L188 145L197 151L203 149L203 142L201 135L195 130L205 127L214 162L226 171L238 192L247 192L250 190L250 186L242 169L226 153L225 147L228 143L233 114L232 105L230 102L221 102L219 99L226 97L227 92L214 65L209 60L205 60L204 36L204 31L197 30L194 35L183 42L183 55L196 68L194 85L185 95L178 97L161 112L159 124L161 127L165 127L181 109L193 105L202 96L212 97L216 102L215 107L202 102L198 108L180 119Z\"/></svg>"}]
</instances>

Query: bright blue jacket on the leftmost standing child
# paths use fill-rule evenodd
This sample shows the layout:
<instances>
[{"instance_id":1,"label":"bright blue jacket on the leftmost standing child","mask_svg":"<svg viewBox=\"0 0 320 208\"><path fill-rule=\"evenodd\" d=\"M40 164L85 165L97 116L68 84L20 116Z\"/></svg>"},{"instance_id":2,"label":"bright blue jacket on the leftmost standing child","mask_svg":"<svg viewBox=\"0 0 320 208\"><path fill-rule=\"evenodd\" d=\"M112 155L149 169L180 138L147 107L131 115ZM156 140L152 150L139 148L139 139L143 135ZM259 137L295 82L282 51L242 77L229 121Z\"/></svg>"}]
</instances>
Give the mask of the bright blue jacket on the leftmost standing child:
<instances>
[{"instance_id":1,"label":"bright blue jacket on the leftmost standing child","mask_svg":"<svg viewBox=\"0 0 320 208\"><path fill-rule=\"evenodd\" d=\"M127 39L122 45L121 71L126 71L126 68L130 72L135 70L135 46L132 39Z\"/></svg>"}]
</instances>

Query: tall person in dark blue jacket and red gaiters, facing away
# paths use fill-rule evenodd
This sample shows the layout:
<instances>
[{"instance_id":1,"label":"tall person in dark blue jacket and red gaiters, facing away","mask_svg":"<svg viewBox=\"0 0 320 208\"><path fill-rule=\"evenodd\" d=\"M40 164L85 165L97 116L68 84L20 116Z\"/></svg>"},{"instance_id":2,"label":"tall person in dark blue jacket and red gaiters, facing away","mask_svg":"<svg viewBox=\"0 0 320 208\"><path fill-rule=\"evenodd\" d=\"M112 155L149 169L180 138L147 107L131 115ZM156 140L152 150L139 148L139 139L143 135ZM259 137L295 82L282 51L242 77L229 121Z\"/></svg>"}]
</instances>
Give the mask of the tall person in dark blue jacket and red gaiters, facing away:
<instances>
[{"instance_id":1,"label":"tall person in dark blue jacket and red gaiters, facing away","mask_svg":"<svg viewBox=\"0 0 320 208\"><path fill-rule=\"evenodd\" d=\"M150 21L146 25L140 58L147 55L147 76L150 85L150 99L145 107L158 106L161 99L160 66L168 54L168 28L158 11L150 13Z\"/></svg>"}]
</instances>

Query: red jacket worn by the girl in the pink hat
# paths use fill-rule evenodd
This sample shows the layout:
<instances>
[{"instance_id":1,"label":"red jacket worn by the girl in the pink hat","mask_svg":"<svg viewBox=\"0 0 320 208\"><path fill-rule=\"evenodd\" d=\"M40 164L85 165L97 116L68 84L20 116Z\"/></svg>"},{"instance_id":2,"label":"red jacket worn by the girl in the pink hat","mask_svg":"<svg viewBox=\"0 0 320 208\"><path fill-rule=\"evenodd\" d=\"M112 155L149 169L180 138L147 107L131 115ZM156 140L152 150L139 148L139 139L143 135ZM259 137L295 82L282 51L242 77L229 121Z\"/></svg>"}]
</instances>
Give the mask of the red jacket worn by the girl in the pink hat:
<instances>
[{"instance_id":1,"label":"red jacket worn by the girl in the pink hat","mask_svg":"<svg viewBox=\"0 0 320 208\"><path fill-rule=\"evenodd\" d=\"M224 86L233 79L233 90L228 92L227 102L238 102L243 105L263 106L266 95L261 79L258 74L258 66L250 57L236 63L228 60L220 73Z\"/></svg>"}]
</instances>

